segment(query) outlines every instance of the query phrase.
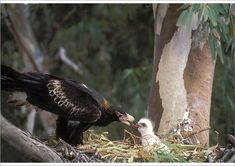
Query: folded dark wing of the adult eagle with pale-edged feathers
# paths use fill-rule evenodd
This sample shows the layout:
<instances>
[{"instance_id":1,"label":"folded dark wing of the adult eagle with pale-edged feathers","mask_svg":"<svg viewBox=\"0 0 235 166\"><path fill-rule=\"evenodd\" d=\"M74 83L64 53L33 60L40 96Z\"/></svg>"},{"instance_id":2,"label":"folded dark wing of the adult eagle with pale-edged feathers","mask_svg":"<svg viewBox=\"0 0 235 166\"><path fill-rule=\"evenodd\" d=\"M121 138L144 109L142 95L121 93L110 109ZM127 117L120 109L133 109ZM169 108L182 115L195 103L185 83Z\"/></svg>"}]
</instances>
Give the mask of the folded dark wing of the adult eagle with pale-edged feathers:
<instances>
[{"instance_id":1,"label":"folded dark wing of the adult eagle with pale-edged feathers","mask_svg":"<svg viewBox=\"0 0 235 166\"><path fill-rule=\"evenodd\" d=\"M70 120L95 122L101 116L101 107L83 86L65 80L50 80L47 84L53 102L65 111Z\"/></svg>"}]
</instances>

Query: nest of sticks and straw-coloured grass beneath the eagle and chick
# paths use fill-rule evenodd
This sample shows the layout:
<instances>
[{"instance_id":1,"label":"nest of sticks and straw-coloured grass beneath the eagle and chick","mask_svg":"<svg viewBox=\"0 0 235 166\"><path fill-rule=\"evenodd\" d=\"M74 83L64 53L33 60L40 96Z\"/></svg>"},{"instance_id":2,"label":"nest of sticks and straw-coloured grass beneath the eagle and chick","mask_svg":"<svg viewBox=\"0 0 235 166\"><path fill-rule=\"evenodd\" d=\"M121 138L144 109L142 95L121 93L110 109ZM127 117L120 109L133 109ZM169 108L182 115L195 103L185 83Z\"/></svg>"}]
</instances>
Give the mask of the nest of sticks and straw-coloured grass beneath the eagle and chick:
<instances>
[{"instance_id":1,"label":"nest of sticks and straw-coloured grass beneath the eagle and chick","mask_svg":"<svg viewBox=\"0 0 235 166\"><path fill-rule=\"evenodd\" d=\"M108 132L95 133L89 130L86 132L85 144L76 147L61 139L49 139L44 143L53 148L65 162L215 162L218 152L218 145L205 148L181 143L173 136L162 140L170 153L158 148L146 151L140 144L140 138L127 130L124 130L122 141L111 141L107 135Z\"/></svg>"}]
</instances>

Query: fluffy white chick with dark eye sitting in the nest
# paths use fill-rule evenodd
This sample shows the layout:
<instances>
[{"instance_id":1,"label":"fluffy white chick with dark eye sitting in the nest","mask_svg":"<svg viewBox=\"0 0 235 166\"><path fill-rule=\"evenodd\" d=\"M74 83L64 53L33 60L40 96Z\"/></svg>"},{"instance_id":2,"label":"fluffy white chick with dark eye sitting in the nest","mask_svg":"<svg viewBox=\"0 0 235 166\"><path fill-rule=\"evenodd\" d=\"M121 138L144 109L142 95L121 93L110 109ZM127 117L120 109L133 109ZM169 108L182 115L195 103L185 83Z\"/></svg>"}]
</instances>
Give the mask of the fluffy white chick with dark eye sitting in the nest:
<instances>
[{"instance_id":1,"label":"fluffy white chick with dark eye sitting in the nest","mask_svg":"<svg viewBox=\"0 0 235 166\"><path fill-rule=\"evenodd\" d=\"M154 134L153 125L149 119L140 119L134 127L138 128L141 134L141 143L145 150L149 151L157 147L159 150L170 152L169 148L165 144L161 143L160 138Z\"/></svg>"}]
</instances>

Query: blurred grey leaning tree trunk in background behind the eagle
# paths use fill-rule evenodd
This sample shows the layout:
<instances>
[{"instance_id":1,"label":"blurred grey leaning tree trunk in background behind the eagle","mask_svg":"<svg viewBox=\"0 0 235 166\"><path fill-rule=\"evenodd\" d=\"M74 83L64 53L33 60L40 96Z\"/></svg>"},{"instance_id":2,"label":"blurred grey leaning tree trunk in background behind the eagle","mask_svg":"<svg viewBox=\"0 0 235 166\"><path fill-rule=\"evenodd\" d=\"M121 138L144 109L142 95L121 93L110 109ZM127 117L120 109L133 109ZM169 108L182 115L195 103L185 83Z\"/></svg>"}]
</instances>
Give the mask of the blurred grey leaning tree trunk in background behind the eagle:
<instances>
[{"instance_id":1,"label":"blurred grey leaning tree trunk in background behind the eagle","mask_svg":"<svg viewBox=\"0 0 235 166\"><path fill-rule=\"evenodd\" d=\"M27 18L27 5L9 4L3 5L2 9L4 10L5 15L8 16L5 19L5 22L11 34L14 36L14 39L23 55L25 64L24 71L48 73L48 71L43 66L45 56L41 51L37 40L35 39L31 24ZM19 100L23 99L19 98ZM36 111L32 107L27 108L29 108L30 112L25 126L27 131L33 133ZM46 111L40 112L39 115L42 121L42 125L44 126L47 133L49 135L53 134L56 116Z\"/></svg>"}]
</instances>

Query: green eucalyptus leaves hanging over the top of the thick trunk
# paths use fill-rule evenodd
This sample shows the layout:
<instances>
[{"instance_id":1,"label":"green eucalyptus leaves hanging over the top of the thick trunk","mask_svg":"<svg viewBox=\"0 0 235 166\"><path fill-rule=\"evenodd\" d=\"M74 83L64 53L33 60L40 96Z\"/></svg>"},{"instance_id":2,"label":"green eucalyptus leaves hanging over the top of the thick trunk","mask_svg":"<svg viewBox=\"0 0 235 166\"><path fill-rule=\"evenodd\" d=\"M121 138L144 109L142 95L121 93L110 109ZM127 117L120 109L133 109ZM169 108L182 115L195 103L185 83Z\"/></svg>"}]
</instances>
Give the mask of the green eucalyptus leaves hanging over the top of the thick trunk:
<instances>
[{"instance_id":1,"label":"green eucalyptus leaves hanging over the top of the thick trunk","mask_svg":"<svg viewBox=\"0 0 235 166\"><path fill-rule=\"evenodd\" d=\"M191 31L192 14L197 14L199 26L208 28L209 43L214 58L219 55L224 64L225 55L235 53L234 15L229 4L187 4L182 5L183 10L177 21L177 26L186 26Z\"/></svg>"}]
</instances>

